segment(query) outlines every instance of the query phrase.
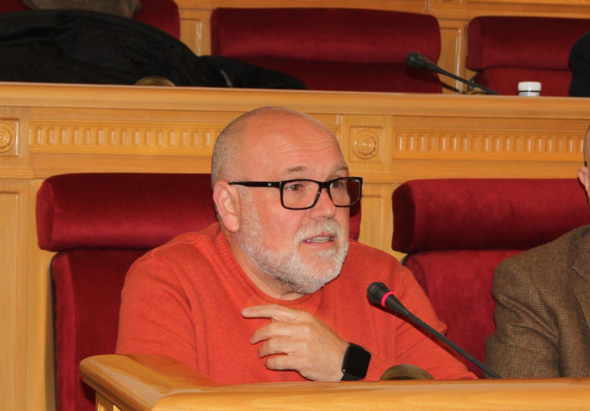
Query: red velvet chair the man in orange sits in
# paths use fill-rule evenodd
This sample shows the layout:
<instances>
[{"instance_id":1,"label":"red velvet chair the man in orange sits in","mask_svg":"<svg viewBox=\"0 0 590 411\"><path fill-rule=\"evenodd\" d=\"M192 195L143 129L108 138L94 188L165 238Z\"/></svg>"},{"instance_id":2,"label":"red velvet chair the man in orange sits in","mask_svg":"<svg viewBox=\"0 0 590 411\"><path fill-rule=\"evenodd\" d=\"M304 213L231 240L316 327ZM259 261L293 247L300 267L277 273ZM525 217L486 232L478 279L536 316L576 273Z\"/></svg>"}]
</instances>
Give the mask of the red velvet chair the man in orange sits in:
<instances>
[{"instance_id":1,"label":"red velvet chair the man in orange sits in","mask_svg":"<svg viewBox=\"0 0 590 411\"><path fill-rule=\"evenodd\" d=\"M89 173L49 177L37 194L37 236L51 261L57 409L94 409L78 364L113 354L130 265L182 232L214 223L208 174ZM351 211L358 238L360 209Z\"/></svg>"}]
</instances>

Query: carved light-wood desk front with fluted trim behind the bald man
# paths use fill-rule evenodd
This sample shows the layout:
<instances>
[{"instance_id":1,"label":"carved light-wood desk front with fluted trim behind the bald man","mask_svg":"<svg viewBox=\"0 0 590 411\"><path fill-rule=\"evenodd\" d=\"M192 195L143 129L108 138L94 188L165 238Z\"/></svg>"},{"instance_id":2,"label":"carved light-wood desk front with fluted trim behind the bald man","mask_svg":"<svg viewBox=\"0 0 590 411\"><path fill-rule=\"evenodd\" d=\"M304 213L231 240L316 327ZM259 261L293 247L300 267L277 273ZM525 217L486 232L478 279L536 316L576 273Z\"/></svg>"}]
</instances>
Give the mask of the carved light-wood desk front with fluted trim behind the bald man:
<instances>
[{"instance_id":1,"label":"carved light-wood desk front with fluted trim behind the bald man","mask_svg":"<svg viewBox=\"0 0 590 411\"><path fill-rule=\"evenodd\" d=\"M360 241L391 252L391 193L408 179L575 177L590 99L0 84L0 407L54 408L50 252L35 193L76 172L209 172L212 145L255 107L334 131L365 181ZM485 216L483 216L485 218ZM394 254L395 255L395 254Z\"/></svg>"}]
</instances>

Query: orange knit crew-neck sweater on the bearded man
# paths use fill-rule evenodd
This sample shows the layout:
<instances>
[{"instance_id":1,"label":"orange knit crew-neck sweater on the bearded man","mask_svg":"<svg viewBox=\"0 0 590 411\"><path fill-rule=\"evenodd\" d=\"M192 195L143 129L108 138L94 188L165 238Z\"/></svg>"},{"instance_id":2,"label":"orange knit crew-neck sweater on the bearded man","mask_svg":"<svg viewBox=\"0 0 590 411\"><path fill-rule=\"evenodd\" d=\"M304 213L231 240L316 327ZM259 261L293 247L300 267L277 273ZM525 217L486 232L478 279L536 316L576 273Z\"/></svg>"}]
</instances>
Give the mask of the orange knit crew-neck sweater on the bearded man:
<instances>
[{"instance_id":1,"label":"orange knit crew-neck sweater on the bearded man","mask_svg":"<svg viewBox=\"0 0 590 411\"><path fill-rule=\"evenodd\" d=\"M395 364L414 364L436 379L474 378L414 325L368 303L366 288L383 281L432 327L444 331L411 272L382 251L351 241L342 272L314 294L281 301L263 294L232 257L217 224L180 235L137 260L122 293L117 353L160 353L217 383L297 382L296 371L268 370L248 339L266 318L242 308L283 304L320 318L340 337L372 354L366 380Z\"/></svg>"}]
</instances>

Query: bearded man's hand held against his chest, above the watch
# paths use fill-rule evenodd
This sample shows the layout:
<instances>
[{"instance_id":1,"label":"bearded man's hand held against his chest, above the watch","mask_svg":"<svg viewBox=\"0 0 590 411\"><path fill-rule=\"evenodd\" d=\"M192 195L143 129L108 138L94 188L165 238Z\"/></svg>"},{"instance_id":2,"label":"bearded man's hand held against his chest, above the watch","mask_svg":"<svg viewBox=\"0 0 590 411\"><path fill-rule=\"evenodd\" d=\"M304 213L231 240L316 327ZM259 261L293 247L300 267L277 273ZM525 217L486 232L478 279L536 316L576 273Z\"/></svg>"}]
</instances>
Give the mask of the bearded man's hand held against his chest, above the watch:
<instances>
[{"instance_id":1,"label":"bearded man's hand held against his chest, above the watch","mask_svg":"<svg viewBox=\"0 0 590 411\"><path fill-rule=\"evenodd\" d=\"M278 304L255 305L242 310L246 318L270 318L250 343L264 343L258 357L270 370L296 370L312 381L339 381L348 343L306 311Z\"/></svg>"}]
</instances>

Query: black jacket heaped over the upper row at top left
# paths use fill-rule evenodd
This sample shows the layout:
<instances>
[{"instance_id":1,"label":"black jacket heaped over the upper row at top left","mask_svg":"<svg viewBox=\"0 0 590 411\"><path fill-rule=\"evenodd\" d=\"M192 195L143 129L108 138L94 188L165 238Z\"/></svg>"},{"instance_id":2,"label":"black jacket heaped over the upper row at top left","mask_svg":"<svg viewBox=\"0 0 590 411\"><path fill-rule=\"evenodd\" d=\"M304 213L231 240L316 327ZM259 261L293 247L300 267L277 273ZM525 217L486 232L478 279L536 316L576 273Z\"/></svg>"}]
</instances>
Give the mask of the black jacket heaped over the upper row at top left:
<instances>
[{"instance_id":1,"label":"black jacket heaped over the upper row at top left","mask_svg":"<svg viewBox=\"0 0 590 411\"><path fill-rule=\"evenodd\" d=\"M199 57L148 24L83 10L0 14L0 81L135 84L158 75L176 86L305 88L290 75Z\"/></svg>"}]
</instances>

